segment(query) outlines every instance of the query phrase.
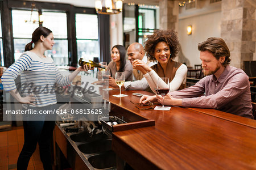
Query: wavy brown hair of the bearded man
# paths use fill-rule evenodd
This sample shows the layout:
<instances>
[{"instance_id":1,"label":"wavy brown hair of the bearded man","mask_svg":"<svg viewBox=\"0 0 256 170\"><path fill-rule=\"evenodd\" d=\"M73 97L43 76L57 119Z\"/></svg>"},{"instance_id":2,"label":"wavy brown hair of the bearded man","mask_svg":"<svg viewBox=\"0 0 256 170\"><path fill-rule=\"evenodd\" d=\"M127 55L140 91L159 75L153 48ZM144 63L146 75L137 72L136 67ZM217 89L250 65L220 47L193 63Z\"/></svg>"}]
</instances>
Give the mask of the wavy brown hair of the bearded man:
<instances>
[{"instance_id":1,"label":"wavy brown hair of the bearded man","mask_svg":"<svg viewBox=\"0 0 256 170\"><path fill-rule=\"evenodd\" d=\"M219 59L220 57L225 57L225 61L222 63L224 67L226 67L226 65L229 65L231 61L231 59L229 58L229 48L226 45L225 41L221 38L210 37L206 41L199 43L198 49L200 50L200 52L208 50L208 52L212 53L216 59Z\"/></svg>"}]
</instances>

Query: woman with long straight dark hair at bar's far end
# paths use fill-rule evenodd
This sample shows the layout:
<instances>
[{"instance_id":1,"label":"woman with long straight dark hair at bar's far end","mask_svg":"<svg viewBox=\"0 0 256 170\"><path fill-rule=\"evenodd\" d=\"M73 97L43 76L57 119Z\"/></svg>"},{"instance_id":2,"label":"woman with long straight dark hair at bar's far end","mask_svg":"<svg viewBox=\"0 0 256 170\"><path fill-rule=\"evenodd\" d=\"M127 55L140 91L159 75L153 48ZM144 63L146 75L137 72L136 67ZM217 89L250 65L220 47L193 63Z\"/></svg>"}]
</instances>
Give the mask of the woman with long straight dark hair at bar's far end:
<instances>
[{"instance_id":1,"label":"woman with long straight dark hair at bar's far end","mask_svg":"<svg viewBox=\"0 0 256 170\"><path fill-rule=\"evenodd\" d=\"M115 73L117 71L125 73L125 80L132 81L133 80L133 66L131 66L130 61L126 61L125 58L126 50L122 45L115 45L112 48L111 61L108 65L108 70L110 71L111 77L109 79L109 85L112 87L118 87L115 84Z\"/></svg>"}]
</instances>

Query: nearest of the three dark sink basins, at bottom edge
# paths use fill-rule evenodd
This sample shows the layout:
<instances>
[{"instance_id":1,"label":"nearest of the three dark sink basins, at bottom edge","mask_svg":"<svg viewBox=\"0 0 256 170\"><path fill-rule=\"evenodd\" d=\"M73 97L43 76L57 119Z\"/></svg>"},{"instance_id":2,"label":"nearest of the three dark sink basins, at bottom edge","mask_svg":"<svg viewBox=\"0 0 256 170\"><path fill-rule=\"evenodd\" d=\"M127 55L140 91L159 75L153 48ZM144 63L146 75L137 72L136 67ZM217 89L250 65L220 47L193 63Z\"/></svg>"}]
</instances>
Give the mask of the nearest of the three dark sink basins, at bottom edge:
<instances>
[{"instance_id":1,"label":"nearest of the three dark sink basins, at bottom edge","mask_svg":"<svg viewBox=\"0 0 256 170\"><path fill-rule=\"evenodd\" d=\"M105 169L115 167L117 163L116 159L117 155L115 155L114 151L106 151L90 156L88 161L93 166L93 168Z\"/></svg>"}]
</instances>

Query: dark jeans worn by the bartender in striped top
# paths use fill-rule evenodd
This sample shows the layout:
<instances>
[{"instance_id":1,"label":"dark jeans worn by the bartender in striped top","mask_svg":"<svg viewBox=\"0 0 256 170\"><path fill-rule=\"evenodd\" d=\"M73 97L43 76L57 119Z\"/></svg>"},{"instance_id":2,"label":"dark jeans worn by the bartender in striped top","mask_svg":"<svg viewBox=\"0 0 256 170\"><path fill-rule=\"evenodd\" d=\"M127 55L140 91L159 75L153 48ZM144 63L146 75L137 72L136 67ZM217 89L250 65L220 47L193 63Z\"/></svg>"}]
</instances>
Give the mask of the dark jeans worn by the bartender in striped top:
<instances>
[{"instance_id":1,"label":"dark jeans worn by the bartender in striped top","mask_svg":"<svg viewBox=\"0 0 256 170\"><path fill-rule=\"evenodd\" d=\"M53 107L56 107L56 105L50 105L47 109ZM27 169L37 143L39 144L40 159L44 169L52 169L50 146L54 126L55 121L23 121L24 145L17 162L18 170Z\"/></svg>"}]
</instances>

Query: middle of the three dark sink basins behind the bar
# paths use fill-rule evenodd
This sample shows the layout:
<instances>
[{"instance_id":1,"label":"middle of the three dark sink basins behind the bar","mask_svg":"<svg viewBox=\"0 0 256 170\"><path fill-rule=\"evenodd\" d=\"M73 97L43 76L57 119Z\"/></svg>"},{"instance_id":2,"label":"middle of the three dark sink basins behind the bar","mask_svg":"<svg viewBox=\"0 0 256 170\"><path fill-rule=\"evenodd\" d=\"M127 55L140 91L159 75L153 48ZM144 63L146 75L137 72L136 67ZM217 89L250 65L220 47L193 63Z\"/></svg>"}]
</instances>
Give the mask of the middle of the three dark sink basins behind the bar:
<instances>
[{"instance_id":1,"label":"middle of the three dark sink basins behind the bar","mask_svg":"<svg viewBox=\"0 0 256 170\"><path fill-rule=\"evenodd\" d=\"M111 150L112 139L103 139L79 145L78 148L84 154L93 154Z\"/></svg>"}]
</instances>

